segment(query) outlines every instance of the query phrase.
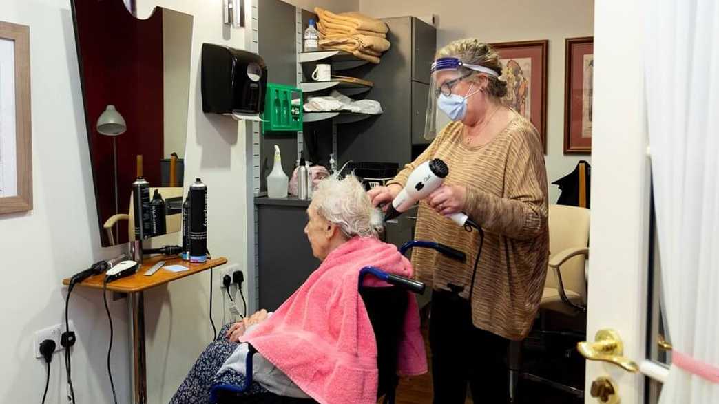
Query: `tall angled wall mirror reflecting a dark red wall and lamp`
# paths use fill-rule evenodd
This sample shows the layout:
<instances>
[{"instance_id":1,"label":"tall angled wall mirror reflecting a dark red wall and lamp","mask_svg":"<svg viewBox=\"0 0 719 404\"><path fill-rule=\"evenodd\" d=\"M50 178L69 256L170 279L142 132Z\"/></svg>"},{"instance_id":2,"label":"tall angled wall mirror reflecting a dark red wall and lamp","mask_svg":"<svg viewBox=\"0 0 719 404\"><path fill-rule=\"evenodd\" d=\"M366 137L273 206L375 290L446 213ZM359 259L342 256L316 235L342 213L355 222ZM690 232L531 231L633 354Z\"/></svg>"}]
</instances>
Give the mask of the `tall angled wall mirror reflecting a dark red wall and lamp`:
<instances>
[{"instance_id":1,"label":"tall angled wall mirror reflecting a dark red wall and lamp","mask_svg":"<svg viewBox=\"0 0 719 404\"><path fill-rule=\"evenodd\" d=\"M123 0L73 0L99 230L103 247L134 239L132 183L165 201L180 231L193 17L155 7L137 19Z\"/></svg>"}]
</instances>

